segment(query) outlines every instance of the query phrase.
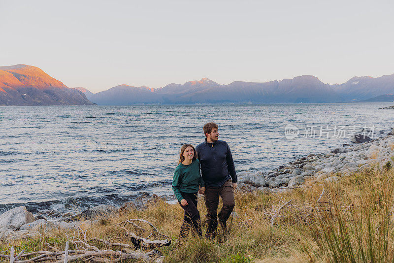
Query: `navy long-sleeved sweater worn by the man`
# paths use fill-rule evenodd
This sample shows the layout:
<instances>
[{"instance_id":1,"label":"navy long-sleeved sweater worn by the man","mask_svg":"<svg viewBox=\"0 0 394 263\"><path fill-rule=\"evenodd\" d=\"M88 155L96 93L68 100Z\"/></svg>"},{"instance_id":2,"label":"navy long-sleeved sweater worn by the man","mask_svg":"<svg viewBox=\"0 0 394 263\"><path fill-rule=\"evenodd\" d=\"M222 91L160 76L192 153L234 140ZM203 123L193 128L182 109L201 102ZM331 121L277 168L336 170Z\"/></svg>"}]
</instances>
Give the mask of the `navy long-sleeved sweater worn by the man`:
<instances>
[{"instance_id":1,"label":"navy long-sleeved sweater worn by the man","mask_svg":"<svg viewBox=\"0 0 394 263\"><path fill-rule=\"evenodd\" d=\"M225 141L205 142L196 147L197 157L200 161L201 175L206 186L221 187L231 179L237 182L234 161L230 147Z\"/></svg>"}]
</instances>

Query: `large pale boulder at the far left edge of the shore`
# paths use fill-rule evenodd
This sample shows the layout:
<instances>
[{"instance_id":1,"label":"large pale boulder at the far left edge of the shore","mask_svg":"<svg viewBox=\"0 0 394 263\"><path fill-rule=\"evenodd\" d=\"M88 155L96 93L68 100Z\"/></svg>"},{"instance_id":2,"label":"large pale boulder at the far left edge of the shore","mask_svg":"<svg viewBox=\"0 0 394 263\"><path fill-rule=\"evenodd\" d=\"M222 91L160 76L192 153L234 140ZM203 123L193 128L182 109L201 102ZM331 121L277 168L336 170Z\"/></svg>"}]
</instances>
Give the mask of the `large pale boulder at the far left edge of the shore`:
<instances>
[{"instance_id":1,"label":"large pale boulder at the far left edge of the shore","mask_svg":"<svg viewBox=\"0 0 394 263\"><path fill-rule=\"evenodd\" d=\"M34 221L33 214L25 206L18 206L0 215L0 228L19 228Z\"/></svg>"}]
</instances>

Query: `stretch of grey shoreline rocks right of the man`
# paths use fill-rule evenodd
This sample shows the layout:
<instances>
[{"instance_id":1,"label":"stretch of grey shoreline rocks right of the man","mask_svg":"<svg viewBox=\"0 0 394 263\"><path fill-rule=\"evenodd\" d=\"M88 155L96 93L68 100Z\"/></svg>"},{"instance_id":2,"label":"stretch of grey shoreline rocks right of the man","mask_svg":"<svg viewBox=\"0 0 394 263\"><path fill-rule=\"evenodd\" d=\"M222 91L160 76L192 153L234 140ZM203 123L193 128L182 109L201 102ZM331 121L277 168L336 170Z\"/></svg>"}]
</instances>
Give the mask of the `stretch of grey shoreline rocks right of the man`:
<instances>
[{"instance_id":1,"label":"stretch of grey shoreline rocks right of the man","mask_svg":"<svg viewBox=\"0 0 394 263\"><path fill-rule=\"evenodd\" d=\"M355 134L352 142L327 154L309 154L280 165L268 173L239 173L239 189L262 192L286 192L316 182L335 182L341 176L378 164L394 166L394 129L387 136L371 139Z\"/></svg>"}]
</instances>

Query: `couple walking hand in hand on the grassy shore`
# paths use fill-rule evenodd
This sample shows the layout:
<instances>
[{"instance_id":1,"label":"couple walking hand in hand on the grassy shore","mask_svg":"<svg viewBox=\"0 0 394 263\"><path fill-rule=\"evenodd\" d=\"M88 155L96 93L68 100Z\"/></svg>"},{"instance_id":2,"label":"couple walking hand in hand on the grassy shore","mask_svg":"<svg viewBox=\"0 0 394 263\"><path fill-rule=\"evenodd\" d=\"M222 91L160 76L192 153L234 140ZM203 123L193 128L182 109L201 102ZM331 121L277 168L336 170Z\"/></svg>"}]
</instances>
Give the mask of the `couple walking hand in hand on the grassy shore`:
<instances>
[{"instance_id":1,"label":"couple walking hand in hand on the grassy shore","mask_svg":"<svg viewBox=\"0 0 394 263\"><path fill-rule=\"evenodd\" d=\"M227 142L219 140L218 129L213 122L205 124L205 142L197 145L196 149L191 144L184 144L181 148L172 179L172 190L185 210L179 234L181 239L188 235L189 230L202 236L197 192L205 196L206 236L215 237L218 223L222 230L227 231L226 221L235 205L237 175L230 147ZM218 214L219 196L223 207Z\"/></svg>"}]
</instances>

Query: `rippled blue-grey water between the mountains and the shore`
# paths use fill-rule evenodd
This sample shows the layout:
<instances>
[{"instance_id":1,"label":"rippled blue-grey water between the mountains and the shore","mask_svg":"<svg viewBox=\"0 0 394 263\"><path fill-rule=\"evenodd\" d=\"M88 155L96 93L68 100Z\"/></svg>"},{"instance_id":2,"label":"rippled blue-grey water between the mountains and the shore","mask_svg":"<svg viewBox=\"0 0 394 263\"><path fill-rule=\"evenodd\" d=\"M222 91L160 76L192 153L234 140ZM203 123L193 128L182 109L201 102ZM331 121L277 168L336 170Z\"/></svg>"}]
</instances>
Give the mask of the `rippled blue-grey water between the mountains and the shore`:
<instances>
[{"instance_id":1,"label":"rippled blue-grey water between the mountains and the shore","mask_svg":"<svg viewBox=\"0 0 394 263\"><path fill-rule=\"evenodd\" d=\"M349 143L361 128L387 134L394 111L378 107L391 104L0 107L0 212L171 195L180 147L203 142L206 122L219 125L237 172L267 171ZM295 138L286 138L287 125L298 128Z\"/></svg>"}]
</instances>

